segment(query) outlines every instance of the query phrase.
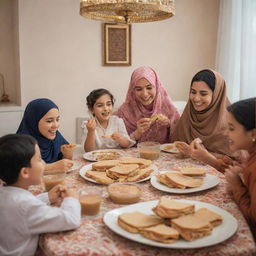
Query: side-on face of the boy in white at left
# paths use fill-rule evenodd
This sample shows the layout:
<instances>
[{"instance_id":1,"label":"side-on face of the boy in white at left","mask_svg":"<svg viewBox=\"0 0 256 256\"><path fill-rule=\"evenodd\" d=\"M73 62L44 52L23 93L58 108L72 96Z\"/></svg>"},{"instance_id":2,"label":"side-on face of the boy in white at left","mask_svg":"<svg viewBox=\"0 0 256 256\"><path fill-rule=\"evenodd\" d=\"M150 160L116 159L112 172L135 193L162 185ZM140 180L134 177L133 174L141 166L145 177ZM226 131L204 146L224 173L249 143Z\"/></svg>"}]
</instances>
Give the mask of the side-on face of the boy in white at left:
<instances>
[{"instance_id":1,"label":"side-on face of the boy in white at left","mask_svg":"<svg viewBox=\"0 0 256 256\"><path fill-rule=\"evenodd\" d=\"M35 154L30 160L31 167L27 167L29 171L29 183L31 185L39 185L45 169L45 162L41 158L38 145L35 145Z\"/></svg>"}]
</instances>

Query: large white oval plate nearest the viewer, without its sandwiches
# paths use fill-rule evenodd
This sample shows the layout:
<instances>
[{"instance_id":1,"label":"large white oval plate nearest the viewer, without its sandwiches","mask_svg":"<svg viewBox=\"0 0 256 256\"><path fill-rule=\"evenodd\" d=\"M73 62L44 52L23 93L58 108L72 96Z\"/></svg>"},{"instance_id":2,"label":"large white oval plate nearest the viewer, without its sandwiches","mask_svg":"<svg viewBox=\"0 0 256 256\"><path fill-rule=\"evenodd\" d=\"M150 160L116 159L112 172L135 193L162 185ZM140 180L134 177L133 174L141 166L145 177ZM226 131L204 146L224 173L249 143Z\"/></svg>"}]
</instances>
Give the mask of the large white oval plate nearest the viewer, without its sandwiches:
<instances>
[{"instance_id":1,"label":"large white oval plate nearest the viewer, without its sandwiches","mask_svg":"<svg viewBox=\"0 0 256 256\"><path fill-rule=\"evenodd\" d=\"M206 207L209 210L212 210L220 214L223 217L223 222L221 225L213 228L211 235L201 237L190 242L183 239L179 239L175 243L164 244L164 243L159 243L159 242L147 239L141 236L140 234L129 233L126 230L122 229L117 224L117 218L122 213L139 211L145 214L153 214L151 209L157 205L158 200L132 204L132 205L111 210L104 215L103 220L104 220L104 223L112 231L114 231L118 235L123 236L127 239L130 239L142 244L147 244L150 246L174 248L174 249L191 249L191 248L211 246L211 245L218 244L225 241L236 232L237 226L238 226L237 220L227 211L217 206L214 206L212 204L207 204L199 201L193 201L193 200L177 200L177 201L184 202L184 203L193 203L195 204L196 210L202 207Z\"/></svg>"}]
</instances>

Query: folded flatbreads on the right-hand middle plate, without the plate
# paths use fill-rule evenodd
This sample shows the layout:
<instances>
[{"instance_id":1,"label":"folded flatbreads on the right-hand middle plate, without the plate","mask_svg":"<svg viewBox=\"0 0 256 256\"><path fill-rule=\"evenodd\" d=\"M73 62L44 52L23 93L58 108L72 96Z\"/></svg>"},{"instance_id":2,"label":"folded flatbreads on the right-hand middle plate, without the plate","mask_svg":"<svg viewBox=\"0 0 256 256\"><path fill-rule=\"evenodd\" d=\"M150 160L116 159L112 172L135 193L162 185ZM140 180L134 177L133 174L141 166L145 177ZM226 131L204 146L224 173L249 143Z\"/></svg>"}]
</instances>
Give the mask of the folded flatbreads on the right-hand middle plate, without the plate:
<instances>
[{"instance_id":1,"label":"folded flatbreads on the right-hand middle plate, without the plate","mask_svg":"<svg viewBox=\"0 0 256 256\"><path fill-rule=\"evenodd\" d=\"M182 169L181 171L170 171L156 175L157 180L170 188L195 188L204 183L203 178L192 176L205 175L204 170Z\"/></svg>"}]
</instances>

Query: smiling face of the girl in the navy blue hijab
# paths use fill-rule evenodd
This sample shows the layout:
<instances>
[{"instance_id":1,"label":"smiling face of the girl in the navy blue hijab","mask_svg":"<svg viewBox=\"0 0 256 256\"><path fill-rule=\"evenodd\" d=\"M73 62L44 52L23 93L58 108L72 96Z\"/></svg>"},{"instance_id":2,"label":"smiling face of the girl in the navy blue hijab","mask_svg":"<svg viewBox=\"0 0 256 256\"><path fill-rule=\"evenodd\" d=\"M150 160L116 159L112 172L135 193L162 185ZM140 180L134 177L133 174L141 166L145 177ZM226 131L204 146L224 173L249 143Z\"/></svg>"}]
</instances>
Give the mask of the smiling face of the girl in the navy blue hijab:
<instances>
[{"instance_id":1,"label":"smiling face of the girl in the navy blue hijab","mask_svg":"<svg viewBox=\"0 0 256 256\"><path fill-rule=\"evenodd\" d=\"M49 110L39 121L39 132L47 139L54 140L60 127L60 114L57 108Z\"/></svg>"}]
</instances>

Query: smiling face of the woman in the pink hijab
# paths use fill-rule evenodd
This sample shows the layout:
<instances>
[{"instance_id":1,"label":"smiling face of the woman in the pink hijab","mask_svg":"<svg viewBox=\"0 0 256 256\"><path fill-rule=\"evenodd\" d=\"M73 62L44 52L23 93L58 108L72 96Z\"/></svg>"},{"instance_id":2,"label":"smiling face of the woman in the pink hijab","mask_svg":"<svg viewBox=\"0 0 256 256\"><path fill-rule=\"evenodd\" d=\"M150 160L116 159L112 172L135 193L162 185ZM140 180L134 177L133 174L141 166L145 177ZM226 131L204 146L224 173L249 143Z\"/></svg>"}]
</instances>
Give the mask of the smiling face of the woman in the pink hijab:
<instances>
[{"instance_id":1,"label":"smiling face of the woman in the pink hijab","mask_svg":"<svg viewBox=\"0 0 256 256\"><path fill-rule=\"evenodd\" d=\"M142 105L148 106L156 97L156 88L147 79L141 78L134 87L134 93Z\"/></svg>"}]
</instances>

